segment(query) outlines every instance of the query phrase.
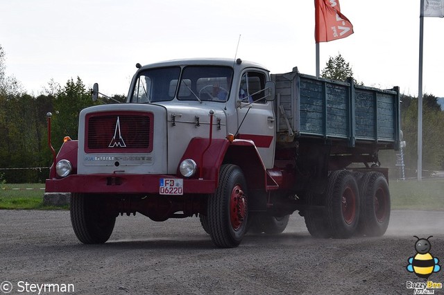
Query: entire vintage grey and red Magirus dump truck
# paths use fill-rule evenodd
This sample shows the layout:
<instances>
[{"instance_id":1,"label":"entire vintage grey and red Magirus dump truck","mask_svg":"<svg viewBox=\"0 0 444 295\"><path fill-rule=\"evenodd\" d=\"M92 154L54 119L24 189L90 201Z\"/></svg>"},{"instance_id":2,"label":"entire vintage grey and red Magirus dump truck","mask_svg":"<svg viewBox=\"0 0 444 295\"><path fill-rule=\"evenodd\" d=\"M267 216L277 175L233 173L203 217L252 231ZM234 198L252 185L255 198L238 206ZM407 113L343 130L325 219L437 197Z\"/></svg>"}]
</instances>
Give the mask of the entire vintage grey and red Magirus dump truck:
<instances>
[{"instance_id":1,"label":"entire vintage grey and red Magirus dump truck","mask_svg":"<svg viewBox=\"0 0 444 295\"><path fill-rule=\"evenodd\" d=\"M390 218L378 152L399 146L398 87L271 75L240 59L137 64L126 103L80 111L46 192L71 193L85 244L137 212L199 217L216 247L282 233L295 211L316 237L376 236Z\"/></svg>"}]
</instances>

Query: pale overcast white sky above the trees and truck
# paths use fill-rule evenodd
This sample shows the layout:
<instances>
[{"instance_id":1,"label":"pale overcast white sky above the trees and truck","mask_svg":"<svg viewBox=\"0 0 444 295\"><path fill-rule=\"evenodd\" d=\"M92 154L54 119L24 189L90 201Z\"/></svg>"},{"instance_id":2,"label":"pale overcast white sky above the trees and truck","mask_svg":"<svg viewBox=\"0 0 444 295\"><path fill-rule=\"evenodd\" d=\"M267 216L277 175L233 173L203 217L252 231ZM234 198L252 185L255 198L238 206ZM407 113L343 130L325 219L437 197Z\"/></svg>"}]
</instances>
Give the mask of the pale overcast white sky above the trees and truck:
<instances>
[{"instance_id":1,"label":"pale overcast white sky above the trees and truck","mask_svg":"<svg viewBox=\"0 0 444 295\"><path fill-rule=\"evenodd\" d=\"M339 0L355 33L320 44L366 86L418 96L420 0ZM127 94L135 64L240 57L271 73L316 75L313 0L1 0L6 74L28 93L79 77ZM444 97L444 19L424 21L423 91ZM239 47L237 44L240 42Z\"/></svg>"}]
</instances>

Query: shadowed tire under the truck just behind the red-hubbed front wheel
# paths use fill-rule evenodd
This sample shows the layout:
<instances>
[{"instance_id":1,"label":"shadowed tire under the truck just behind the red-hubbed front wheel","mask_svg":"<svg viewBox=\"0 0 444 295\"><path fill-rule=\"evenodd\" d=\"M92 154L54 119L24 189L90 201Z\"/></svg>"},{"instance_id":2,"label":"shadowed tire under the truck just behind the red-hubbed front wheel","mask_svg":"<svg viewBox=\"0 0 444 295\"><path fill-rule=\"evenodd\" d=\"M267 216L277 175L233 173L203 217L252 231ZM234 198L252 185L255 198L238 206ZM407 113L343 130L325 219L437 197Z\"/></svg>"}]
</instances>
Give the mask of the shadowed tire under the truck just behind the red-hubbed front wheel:
<instances>
[{"instance_id":1,"label":"shadowed tire under the truck just behind the red-hubbed front wheel","mask_svg":"<svg viewBox=\"0 0 444 295\"><path fill-rule=\"evenodd\" d=\"M251 220L251 218L249 219ZM266 233L268 235L278 235L287 228L289 219L290 215L275 217L273 215L258 214L253 217L253 222L248 231L257 234Z\"/></svg>"}]
</instances>

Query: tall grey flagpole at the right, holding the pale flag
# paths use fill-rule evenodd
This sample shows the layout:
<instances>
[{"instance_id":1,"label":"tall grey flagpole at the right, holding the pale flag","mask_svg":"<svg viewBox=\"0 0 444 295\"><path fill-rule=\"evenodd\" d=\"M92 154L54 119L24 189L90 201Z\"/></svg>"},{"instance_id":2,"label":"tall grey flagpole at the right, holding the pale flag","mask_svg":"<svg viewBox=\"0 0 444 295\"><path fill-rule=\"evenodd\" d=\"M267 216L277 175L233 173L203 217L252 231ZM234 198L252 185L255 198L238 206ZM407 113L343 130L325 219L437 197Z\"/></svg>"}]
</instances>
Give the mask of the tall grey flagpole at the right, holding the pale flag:
<instances>
[{"instance_id":1,"label":"tall grey flagpole at the right, holding the pale flag","mask_svg":"<svg viewBox=\"0 0 444 295\"><path fill-rule=\"evenodd\" d=\"M419 71L418 71L418 181L422 180L422 44L424 42L424 0L420 4L419 17Z\"/></svg>"}]
</instances>

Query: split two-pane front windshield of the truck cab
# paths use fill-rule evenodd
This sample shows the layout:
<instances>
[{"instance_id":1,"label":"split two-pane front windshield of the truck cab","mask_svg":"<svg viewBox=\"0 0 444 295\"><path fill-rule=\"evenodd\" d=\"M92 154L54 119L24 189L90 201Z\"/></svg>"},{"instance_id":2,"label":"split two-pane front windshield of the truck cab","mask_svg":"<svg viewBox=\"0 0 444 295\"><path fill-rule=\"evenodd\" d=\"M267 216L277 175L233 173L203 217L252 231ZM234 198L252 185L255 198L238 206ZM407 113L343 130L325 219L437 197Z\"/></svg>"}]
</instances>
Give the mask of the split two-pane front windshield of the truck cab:
<instances>
[{"instance_id":1,"label":"split two-pane front windshield of the truck cab","mask_svg":"<svg viewBox=\"0 0 444 295\"><path fill-rule=\"evenodd\" d=\"M180 78L181 76L181 78ZM178 83L180 78L180 83ZM147 69L139 73L130 102L228 100L232 69L228 66L179 66Z\"/></svg>"}]
</instances>

